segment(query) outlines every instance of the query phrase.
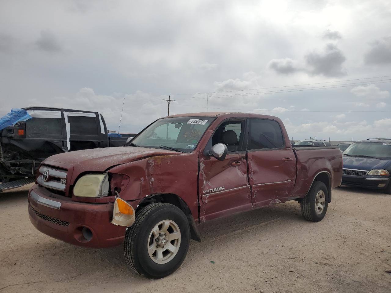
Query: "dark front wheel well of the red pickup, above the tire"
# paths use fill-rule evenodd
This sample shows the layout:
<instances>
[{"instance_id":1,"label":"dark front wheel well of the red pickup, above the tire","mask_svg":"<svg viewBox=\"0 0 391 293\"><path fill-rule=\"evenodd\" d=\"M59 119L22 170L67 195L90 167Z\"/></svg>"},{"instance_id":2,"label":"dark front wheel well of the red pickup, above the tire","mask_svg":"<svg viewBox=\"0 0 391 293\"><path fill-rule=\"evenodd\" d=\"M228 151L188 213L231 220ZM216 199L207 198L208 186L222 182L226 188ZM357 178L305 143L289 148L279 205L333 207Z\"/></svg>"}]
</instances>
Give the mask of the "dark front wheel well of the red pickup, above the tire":
<instances>
[{"instance_id":1,"label":"dark front wheel well of the red pickup, above the tire","mask_svg":"<svg viewBox=\"0 0 391 293\"><path fill-rule=\"evenodd\" d=\"M185 201L182 198L178 197L178 195L176 194L157 194L145 197L138 204L138 207L136 209L136 215L140 209L154 202L165 202L166 204L172 204L181 209L181 211L183 211L183 213L186 215L190 225L190 238L195 241L201 241L201 235L199 234L197 226L195 225L194 217L192 216L189 207L187 206Z\"/></svg>"}]
</instances>

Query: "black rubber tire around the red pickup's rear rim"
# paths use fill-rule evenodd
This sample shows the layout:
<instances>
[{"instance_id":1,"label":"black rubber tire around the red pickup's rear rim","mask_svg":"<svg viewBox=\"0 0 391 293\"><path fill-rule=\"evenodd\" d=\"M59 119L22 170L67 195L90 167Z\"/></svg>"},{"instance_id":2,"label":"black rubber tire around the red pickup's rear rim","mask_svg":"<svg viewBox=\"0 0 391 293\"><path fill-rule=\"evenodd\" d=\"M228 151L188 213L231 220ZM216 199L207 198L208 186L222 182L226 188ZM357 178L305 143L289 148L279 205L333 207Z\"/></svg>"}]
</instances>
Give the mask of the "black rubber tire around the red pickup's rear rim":
<instances>
[{"instance_id":1,"label":"black rubber tire around the red pickup's rear rim","mask_svg":"<svg viewBox=\"0 0 391 293\"><path fill-rule=\"evenodd\" d=\"M316 207L315 207L316 195L319 191L323 191L323 193L325 194L325 205L323 211L320 214L316 212ZM319 222L325 217L327 212L327 207L328 207L327 187L323 182L314 181L314 183L310 188L310 191L308 191L307 195L300 202L301 214L307 221Z\"/></svg>"}]
</instances>

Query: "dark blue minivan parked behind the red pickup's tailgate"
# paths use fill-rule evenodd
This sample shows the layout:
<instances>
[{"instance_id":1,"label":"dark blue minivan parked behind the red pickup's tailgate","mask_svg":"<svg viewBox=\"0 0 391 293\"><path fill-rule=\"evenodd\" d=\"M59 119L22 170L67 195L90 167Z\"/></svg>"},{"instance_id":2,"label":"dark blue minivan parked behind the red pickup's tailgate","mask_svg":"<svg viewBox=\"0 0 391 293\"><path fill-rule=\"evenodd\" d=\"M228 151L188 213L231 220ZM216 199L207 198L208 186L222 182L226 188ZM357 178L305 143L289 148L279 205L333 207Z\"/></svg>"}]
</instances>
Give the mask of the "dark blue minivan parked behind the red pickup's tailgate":
<instances>
[{"instance_id":1,"label":"dark blue minivan parked behind the red pickup's tailgate","mask_svg":"<svg viewBox=\"0 0 391 293\"><path fill-rule=\"evenodd\" d=\"M343 152L342 184L383 189L391 194L391 139L352 143Z\"/></svg>"}]
</instances>

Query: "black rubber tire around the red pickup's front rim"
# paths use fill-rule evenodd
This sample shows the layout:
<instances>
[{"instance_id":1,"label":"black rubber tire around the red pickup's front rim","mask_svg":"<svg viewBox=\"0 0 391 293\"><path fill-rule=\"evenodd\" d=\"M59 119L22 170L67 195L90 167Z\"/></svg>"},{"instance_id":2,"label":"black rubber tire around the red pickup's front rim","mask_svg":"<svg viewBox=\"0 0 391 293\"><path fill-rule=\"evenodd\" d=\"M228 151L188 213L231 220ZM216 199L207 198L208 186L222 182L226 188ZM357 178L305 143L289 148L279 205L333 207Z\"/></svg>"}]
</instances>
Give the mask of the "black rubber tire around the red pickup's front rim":
<instances>
[{"instance_id":1,"label":"black rubber tire around the red pickup's front rim","mask_svg":"<svg viewBox=\"0 0 391 293\"><path fill-rule=\"evenodd\" d=\"M148 253L150 233L159 222L174 221L180 231L178 252L168 263L154 262ZM178 207L166 203L154 203L136 213L135 223L125 234L124 253L127 264L138 274L160 279L175 272L186 257L190 243L190 227L186 215Z\"/></svg>"}]
</instances>

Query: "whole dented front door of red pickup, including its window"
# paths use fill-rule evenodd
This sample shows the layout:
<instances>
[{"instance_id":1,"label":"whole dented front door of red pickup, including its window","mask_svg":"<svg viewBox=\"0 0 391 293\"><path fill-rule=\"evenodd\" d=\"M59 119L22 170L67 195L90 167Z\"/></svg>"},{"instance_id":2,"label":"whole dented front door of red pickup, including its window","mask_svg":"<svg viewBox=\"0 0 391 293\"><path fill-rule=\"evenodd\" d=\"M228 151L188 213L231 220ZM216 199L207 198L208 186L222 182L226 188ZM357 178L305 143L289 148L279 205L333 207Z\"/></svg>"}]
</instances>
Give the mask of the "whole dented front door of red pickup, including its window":
<instances>
[{"instance_id":1,"label":"whole dented front door of red pickup, including its window","mask_svg":"<svg viewBox=\"0 0 391 293\"><path fill-rule=\"evenodd\" d=\"M199 201L201 222L252 208L246 160L246 120L226 120L215 131L208 147L227 145L224 161L201 155Z\"/></svg>"}]
</instances>

